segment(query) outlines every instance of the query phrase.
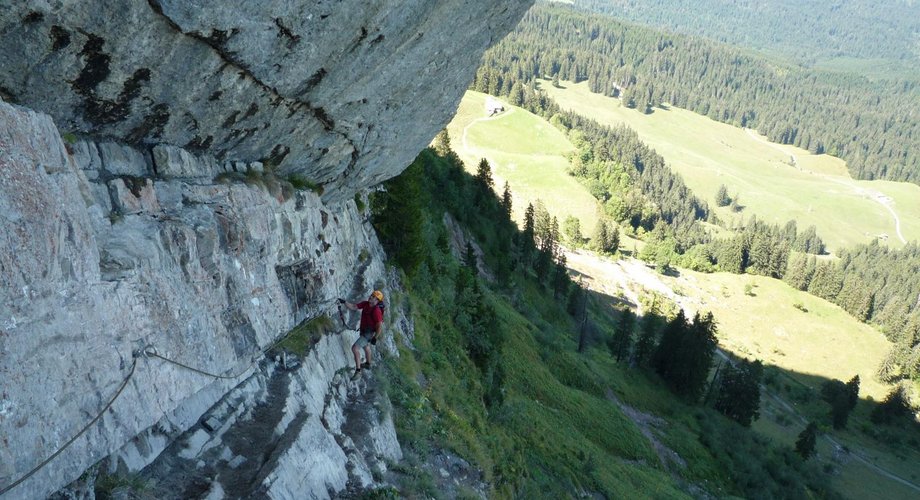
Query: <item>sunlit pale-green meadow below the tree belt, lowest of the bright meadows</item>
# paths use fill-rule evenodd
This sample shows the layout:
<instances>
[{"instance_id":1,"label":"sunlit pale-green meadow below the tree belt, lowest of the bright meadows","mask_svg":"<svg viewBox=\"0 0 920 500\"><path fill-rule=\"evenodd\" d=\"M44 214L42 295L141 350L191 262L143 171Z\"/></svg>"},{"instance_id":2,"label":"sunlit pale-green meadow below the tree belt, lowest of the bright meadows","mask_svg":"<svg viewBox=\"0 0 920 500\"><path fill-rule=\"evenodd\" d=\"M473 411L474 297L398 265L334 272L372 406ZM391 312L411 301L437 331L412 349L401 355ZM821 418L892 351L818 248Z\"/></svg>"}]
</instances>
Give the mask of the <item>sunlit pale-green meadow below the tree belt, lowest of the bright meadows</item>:
<instances>
[{"instance_id":1,"label":"sunlit pale-green meadow below the tree belt, lowest of the bright meadows","mask_svg":"<svg viewBox=\"0 0 920 500\"><path fill-rule=\"evenodd\" d=\"M662 280L694 309L712 311L719 344L740 357L801 374L805 384L859 375L862 397L881 400L891 390L875 377L891 344L837 305L764 276L681 269Z\"/></svg>"}]
</instances>

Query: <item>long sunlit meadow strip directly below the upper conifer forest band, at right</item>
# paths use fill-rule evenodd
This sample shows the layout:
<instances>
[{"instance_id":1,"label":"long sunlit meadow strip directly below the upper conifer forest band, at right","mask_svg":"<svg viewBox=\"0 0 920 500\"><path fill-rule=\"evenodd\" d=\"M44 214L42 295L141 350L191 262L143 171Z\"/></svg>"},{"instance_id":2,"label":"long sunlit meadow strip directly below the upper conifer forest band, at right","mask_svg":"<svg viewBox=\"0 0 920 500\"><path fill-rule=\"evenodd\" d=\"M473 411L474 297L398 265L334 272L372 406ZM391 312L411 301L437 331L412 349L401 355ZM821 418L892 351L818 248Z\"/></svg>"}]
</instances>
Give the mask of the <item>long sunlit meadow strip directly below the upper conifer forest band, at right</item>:
<instances>
[{"instance_id":1,"label":"long sunlit meadow strip directly below the upper conifer forest band, at right","mask_svg":"<svg viewBox=\"0 0 920 500\"><path fill-rule=\"evenodd\" d=\"M795 219L800 228L814 224L831 249L868 242L880 233L900 246L891 215L858 190L872 189L894 199L905 238L920 238L920 186L855 181L837 158L765 143L756 134L679 108L643 115L621 107L618 99L590 93L586 83L567 82L559 89L544 82L541 87L564 109L633 128L701 198L712 201L724 184L730 194L739 194L745 217L756 214L779 223ZM789 165L792 155L800 168ZM717 214L734 217L728 208Z\"/></svg>"}]
</instances>

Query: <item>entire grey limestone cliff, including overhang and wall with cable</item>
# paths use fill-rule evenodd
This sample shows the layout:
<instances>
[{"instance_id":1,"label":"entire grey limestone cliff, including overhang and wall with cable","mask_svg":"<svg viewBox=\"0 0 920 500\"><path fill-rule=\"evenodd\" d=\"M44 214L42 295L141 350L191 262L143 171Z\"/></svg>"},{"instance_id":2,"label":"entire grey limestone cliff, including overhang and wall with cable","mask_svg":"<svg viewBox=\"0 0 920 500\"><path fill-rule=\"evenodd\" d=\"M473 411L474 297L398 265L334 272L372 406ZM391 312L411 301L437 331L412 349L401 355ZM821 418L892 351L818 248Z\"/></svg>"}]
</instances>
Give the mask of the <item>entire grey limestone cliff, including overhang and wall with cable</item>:
<instances>
[{"instance_id":1,"label":"entire grey limestone cliff, including overhang and wall with cable","mask_svg":"<svg viewBox=\"0 0 920 500\"><path fill-rule=\"evenodd\" d=\"M399 445L341 376L355 334L326 328L296 367L269 348L336 297L398 291L353 195L434 136L529 3L0 6L0 491L62 450L0 496L106 457L194 468L176 497L374 484ZM412 327L390 306L395 355Z\"/></svg>"}]
</instances>

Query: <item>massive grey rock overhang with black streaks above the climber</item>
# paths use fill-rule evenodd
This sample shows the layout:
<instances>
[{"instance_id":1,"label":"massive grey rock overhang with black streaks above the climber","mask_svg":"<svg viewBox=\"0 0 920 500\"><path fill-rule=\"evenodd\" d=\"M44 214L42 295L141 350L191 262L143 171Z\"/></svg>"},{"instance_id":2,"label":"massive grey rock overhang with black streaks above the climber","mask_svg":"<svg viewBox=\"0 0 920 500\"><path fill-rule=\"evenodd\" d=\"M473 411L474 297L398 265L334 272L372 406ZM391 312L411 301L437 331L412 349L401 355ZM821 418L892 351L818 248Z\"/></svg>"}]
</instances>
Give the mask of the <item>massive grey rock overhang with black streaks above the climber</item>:
<instances>
[{"instance_id":1,"label":"massive grey rock overhang with black streaks above the climber","mask_svg":"<svg viewBox=\"0 0 920 500\"><path fill-rule=\"evenodd\" d=\"M67 132L260 161L326 201L392 177L533 0L13 2L0 97Z\"/></svg>"}]
</instances>

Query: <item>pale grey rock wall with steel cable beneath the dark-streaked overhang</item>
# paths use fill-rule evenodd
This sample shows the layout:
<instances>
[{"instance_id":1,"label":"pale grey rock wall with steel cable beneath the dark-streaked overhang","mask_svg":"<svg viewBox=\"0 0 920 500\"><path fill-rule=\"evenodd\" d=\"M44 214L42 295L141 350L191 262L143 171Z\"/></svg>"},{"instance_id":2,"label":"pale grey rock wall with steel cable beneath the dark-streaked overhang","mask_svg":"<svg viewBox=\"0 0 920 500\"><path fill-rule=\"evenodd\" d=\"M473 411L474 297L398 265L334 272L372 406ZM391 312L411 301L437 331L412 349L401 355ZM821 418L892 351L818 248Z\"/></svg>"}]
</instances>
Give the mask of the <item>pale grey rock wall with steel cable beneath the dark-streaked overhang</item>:
<instances>
[{"instance_id":1,"label":"pale grey rock wall with steel cable beneath the dark-streaked overhang","mask_svg":"<svg viewBox=\"0 0 920 500\"><path fill-rule=\"evenodd\" d=\"M127 380L98 423L10 498L41 498L167 429L122 451L129 468L146 465L229 390L264 376L261 351L295 324L336 317L336 297L395 286L354 201L324 204L310 191L279 201L258 184L214 184L210 172L154 177L166 157L179 172L216 168L168 153L65 145L48 116L0 103L0 488L77 435ZM398 308L390 317L395 352L405 321ZM322 413L353 336L313 353L297 412ZM137 358L144 348L230 378Z\"/></svg>"}]
</instances>

